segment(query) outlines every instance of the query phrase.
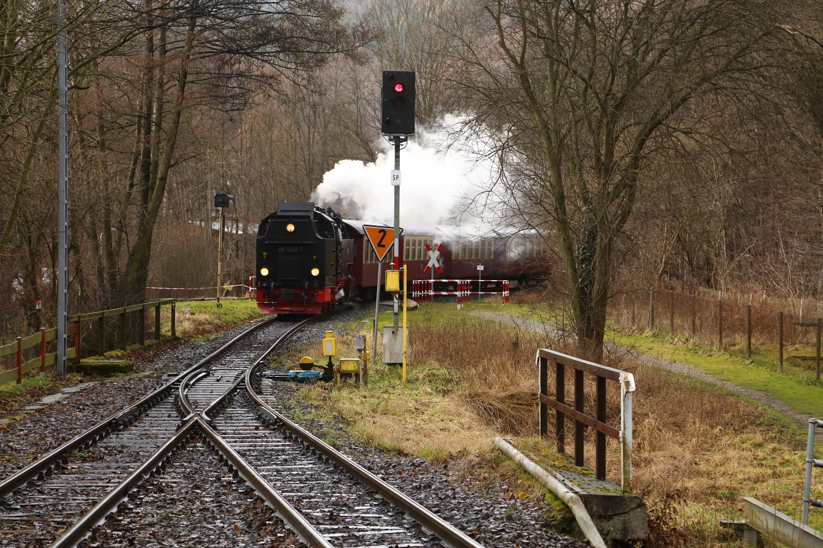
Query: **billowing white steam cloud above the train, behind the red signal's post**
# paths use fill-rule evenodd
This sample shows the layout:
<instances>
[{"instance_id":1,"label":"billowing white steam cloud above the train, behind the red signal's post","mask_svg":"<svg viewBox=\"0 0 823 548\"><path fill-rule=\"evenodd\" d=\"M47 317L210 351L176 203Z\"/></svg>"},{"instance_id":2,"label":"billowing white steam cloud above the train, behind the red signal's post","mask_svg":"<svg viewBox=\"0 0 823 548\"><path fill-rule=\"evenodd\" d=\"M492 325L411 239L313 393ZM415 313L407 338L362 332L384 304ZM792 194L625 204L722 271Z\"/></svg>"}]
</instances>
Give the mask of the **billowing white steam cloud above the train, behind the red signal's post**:
<instances>
[{"instance_id":1,"label":"billowing white steam cloud above the train, behind the red signal's post","mask_svg":"<svg viewBox=\"0 0 823 548\"><path fill-rule=\"evenodd\" d=\"M445 132L418 131L400 152L400 223L412 228L460 224L465 232L479 227L466 205L479 189L487 187L493 173L489 160L477 160L466 150L448 149ZM389 181L394 168L394 148L380 141L374 163L342 160L323 175L312 193L317 205L331 205L343 217L393 223L394 190Z\"/></svg>"}]
</instances>

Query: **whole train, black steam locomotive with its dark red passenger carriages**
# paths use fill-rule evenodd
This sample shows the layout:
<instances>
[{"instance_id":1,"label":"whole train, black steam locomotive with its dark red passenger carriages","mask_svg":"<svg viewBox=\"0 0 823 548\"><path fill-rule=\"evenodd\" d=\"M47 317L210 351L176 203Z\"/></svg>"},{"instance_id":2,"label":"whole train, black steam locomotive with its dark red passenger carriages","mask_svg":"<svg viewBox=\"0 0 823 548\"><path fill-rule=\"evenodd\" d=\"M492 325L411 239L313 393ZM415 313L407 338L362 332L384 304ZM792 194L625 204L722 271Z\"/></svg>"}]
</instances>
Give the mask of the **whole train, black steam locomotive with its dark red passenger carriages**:
<instances>
[{"instance_id":1,"label":"whole train, black steam locomotive with its dark red passenger carriages","mask_svg":"<svg viewBox=\"0 0 823 548\"><path fill-rule=\"evenodd\" d=\"M379 225L381 223L365 223ZM338 303L374 299L379 290L377 256L363 221L342 219L313 202L281 202L260 223L257 235L256 293L264 314L319 314ZM384 225L391 236L392 228ZM551 260L535 235L456 237L436 228L409 229L400 237L400 265L408 280L430 279L426 245L443 244L440 279L483 277L528 283L551 274ZM384 267L393 261L390 251Z\"/></svg>"}]
</instances>

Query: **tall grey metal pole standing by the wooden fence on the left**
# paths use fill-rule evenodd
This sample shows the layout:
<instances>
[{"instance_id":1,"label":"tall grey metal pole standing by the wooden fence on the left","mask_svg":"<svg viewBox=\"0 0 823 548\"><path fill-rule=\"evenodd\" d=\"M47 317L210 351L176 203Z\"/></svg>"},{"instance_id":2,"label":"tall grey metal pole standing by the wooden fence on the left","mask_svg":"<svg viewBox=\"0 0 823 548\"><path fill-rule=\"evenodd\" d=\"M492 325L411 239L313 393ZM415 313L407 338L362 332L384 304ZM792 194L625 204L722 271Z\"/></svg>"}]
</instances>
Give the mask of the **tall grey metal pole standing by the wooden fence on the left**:
<instances>
[{"instance_id":1,"label":"tall grey metal pole standing by the wooden fence on the left","mask_svg":"<svg viewBox=\"0 0 823 548\"><path fill-rule=\"evenodd\" d=\"M68 283L67 196L68 129L66 82L66 0L58 2L57 80L58 80L58 259L57 259L57 374L66 374L66 297Z\"/></svg>"}]
</instances>

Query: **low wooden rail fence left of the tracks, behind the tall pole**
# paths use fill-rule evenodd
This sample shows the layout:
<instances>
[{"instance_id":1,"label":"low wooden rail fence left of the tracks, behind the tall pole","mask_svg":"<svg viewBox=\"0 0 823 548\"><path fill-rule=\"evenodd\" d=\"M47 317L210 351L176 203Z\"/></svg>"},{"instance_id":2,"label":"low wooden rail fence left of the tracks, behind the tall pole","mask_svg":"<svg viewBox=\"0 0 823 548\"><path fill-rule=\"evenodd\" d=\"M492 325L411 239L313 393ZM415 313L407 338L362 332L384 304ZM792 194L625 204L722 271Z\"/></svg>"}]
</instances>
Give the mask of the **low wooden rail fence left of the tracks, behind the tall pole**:
<instances>
[{"instance_id":1,"label":"low wooden rail fence left of the tracks, behind the tall pole","mask_svg":"<svg viewBox=\"0 0 823 548\"><path fill-rule=\"evenodd\" d=\"M86 314L75 314L67 317L67 345L66 359L78 363L81 358L81 335L84 322L94 322L96 331L96 354L102 356L106 352L106 319L116 317L118 319L115 348L125 350L128 345L128 323L129 315L137 315L136 322L132 322L135 329L132 329L133 336L141 346L146 344L146 309L154 310L154 338L160 340L160 306L171 306L170 333L176 336L176 299L165 299L163 301L145 302L140 305L114 308L107 311L89 312ZM15 366L7 371L0 371L0 385L7 385L16 380L19 385L22 382L23 374L40 368L40 375L45 375L45 368L53 366L57 360L56 349L47 352L49 343L57 339L57 329L40 329L35 334L28 337L17 337L16 341L0 346L0 358L14 355ZM50 346L54 346L53 344ZM38 348L38 355L29 360L24 360L24 352L30 348Z\"/></svg>"}]
</instances>

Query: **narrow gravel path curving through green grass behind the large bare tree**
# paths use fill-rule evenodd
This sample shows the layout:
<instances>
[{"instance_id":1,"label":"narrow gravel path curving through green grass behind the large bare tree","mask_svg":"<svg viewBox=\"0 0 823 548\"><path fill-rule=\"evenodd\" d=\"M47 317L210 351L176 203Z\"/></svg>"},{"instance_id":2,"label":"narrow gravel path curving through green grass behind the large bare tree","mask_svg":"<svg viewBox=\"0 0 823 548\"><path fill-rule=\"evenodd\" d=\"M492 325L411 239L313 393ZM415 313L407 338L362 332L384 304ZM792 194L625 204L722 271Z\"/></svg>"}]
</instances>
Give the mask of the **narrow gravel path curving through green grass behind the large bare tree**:
<instances>
[{"instance_id":1,"label":"narrow gravel path curving through green grass behind the large bare tree","mask_svg":"<svg viewBox=\"0 0 823 548\"><path fill-rule=\"evenodd\" d=\"M515 325L519 329L528 329L529 331L536 331L539 333L543 333L546 330L545 326L541 322L518 318L517 316L509 315L505 312L472 312L472 315L477 315L490 320L501 321L509 325ZM686 375L694 379L704 380L705 382L713 385L721 386L735 394L740 394L746 398L751 398L757 403L779 412L784 417L788 417L789 420L797 424L797 427L800 428L800 431L802 432L806 432L808 430L809 419L816 418L811 417L811 415L807 415L806 413L797 412L793 408L786 405L786 403L781 402L779 399L774 399L769 394L760 392L760 390L747 389L730 383L727 380L719 380L712 375L705 374L703 371L700 371L695 367L687 366L685 363L664 360L663 358L649 356L648 354L642 354L635 350L632 350L632 352L635 361L643 364L644 366L660 367L666 371L677 373L678 375ZM816 432L816 440L823 441L823 432Z\"/></svg>"}]
</instances>

